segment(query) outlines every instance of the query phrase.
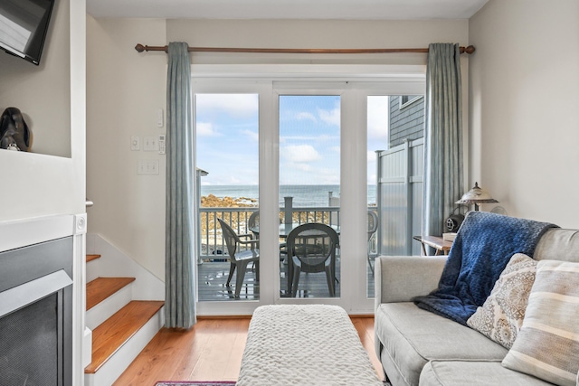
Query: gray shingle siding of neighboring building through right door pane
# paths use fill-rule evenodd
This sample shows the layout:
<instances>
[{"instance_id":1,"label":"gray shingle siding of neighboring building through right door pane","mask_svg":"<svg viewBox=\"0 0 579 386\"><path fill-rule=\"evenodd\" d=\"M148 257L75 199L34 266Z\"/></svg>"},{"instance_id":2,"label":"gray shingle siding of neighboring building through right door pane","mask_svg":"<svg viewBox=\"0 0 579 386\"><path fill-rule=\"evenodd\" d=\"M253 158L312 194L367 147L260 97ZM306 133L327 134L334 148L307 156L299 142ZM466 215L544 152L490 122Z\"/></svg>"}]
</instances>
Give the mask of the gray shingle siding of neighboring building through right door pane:
<instances>
[{"instance_id":1,"label":"gray shingle siding of neighboring building through right door pane","mask_svg":"<svg viewBox=\"0 0 579 386\"><path fill-rule=\"evenodd\" d=\"M390 97L390 147L405 139L424 137L424 98L400 108L401 97Z\"/></svg>"}]
</instances>

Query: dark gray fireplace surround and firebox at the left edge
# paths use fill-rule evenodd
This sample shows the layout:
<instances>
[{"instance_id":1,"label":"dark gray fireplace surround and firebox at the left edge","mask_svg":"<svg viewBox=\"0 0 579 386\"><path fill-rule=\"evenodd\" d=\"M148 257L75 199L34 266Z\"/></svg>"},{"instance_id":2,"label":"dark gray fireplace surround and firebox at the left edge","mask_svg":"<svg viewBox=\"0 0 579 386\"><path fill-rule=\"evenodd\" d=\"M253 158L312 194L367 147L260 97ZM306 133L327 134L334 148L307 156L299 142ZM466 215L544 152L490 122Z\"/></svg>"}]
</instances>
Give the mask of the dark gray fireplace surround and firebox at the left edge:
<instances>
[{"instance_id":1,"label":"dark gray fireplace surround and firebox at the left edge","mask_svg":"<svg viewBox=\"0 0 579 386\"><path fill-rule=\"evenodd\" d=\"M72 385L72 237L0 253L0 385Z\"/></svg>"}]
</instances>

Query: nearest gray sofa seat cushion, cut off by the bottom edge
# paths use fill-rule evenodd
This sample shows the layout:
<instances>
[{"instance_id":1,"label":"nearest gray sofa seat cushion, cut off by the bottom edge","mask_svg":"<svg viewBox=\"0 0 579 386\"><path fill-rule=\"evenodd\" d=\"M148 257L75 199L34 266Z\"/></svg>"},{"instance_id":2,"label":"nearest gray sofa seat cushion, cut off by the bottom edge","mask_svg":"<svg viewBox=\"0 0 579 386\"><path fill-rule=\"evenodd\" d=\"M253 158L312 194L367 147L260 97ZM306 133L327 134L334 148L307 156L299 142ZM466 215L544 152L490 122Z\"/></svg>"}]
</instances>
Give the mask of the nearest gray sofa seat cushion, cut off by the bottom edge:
<instances>
[{"instance_id":1,"label":"nearest gray sofa seat cushion, cut off by the bottom edge","mask_svg":"<svg viewBox=\"0 0 579 386\"><path fill-rule=\"evenodd\" d=\"M513 372L500 362L432 361L420 374L420 386L545 386L551 385L527 374Z\"/></svg>"}]
</instances>

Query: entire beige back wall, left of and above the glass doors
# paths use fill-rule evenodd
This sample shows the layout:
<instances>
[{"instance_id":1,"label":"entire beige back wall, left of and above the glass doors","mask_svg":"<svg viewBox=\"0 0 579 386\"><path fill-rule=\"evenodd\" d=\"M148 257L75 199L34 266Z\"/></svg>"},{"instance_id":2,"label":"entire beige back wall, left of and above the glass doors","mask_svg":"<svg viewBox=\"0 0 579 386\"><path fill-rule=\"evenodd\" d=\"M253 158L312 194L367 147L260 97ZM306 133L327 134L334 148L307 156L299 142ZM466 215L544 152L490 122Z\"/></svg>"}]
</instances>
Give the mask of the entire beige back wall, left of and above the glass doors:
<instances>
[{"instance_id":1,"label":"entire beige back wall, left of and above the glass doors","mask_svg":"<svg viewBox=\"0 0 579 386\"><path fill-rule=\"evenodd\" d=\"M88 196L95 202L88 211L89 232L99 233L163 280L165 155L131 152L129 138L160 132L154 126L154 112L166 105L166 54L138 53L133 47L137 43L165 45L177 41L216 47L422 48L430 42L467 44L468 22L163 21L89 17L87 173ZM192 55L194 64L424 64L425 59L424 54ZM468 59L464 61L466 69ZM137 175L138 158L159 159L161 173Z\"/></svg>"}]
</instances>

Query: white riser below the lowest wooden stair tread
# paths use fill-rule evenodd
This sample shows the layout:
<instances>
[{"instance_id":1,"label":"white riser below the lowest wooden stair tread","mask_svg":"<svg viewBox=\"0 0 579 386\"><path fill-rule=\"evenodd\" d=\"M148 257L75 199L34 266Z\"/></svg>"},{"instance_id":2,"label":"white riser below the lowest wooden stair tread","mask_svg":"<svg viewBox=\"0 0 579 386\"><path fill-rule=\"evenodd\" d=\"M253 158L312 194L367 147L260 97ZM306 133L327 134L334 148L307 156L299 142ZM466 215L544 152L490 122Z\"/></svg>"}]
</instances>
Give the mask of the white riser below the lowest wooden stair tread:
<instances>
[{"instance_id":1,"label":"white riser below the lowest wooden stair tread","mask_svg":"<svg viewBox=\"0 0 579 386\"><path fill-rule=\"evenodd\" d=\"M109 361L105 362L98 372L84 374L84 386L110 386L117 381L120 374L133 362L151 339L157 334L163 325L165 307L161 307L157 314L153 315L146 325L123 344L113 354Z\"/></svg>"}]
</instances>

